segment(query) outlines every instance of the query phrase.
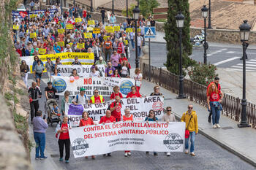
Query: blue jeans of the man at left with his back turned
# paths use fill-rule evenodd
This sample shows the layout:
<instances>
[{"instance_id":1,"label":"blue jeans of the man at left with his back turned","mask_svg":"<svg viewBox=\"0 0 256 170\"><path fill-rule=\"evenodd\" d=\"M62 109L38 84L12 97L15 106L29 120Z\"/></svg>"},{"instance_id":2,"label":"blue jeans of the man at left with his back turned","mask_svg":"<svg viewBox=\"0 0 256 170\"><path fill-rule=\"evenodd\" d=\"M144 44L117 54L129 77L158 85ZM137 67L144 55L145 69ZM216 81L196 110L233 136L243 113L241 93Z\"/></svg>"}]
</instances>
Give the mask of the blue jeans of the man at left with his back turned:
<instances>
[{"instance_id":1,"label":"blue jeans of the man at left with his back turned","mask_svg":"<svg viewBox=\"0 0 256 170\"><path fill-rule=\"evenodd\" d=\"M36 158L45 157L45 133L34 132L34 141L36 142ZM40 150L40 156L39 156Z\"/></svg>"}]
</instances>

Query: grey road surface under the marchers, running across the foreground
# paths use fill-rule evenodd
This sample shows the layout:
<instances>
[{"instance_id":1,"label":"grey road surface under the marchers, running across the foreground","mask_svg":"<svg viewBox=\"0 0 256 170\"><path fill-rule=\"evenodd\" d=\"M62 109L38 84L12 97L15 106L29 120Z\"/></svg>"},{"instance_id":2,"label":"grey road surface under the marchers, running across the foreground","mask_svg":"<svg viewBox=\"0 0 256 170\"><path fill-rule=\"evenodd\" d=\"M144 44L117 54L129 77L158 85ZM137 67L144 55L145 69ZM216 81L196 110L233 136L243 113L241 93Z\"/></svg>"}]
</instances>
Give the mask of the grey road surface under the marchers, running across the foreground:
<instances>
[{"instance_id":1,"label":"grey road surface under the marchers, running across the foreground","mask_svg":"<svg viewBox=\"0 0 256 170\"><path fill-rule=\"evenodd\" d=\"M29 83L32 80L29 80ZM46 81L42 81L41 90L46 87ZM60 106L59 100L59 106ZM39 109L44 112L45 96L39 99ZM49 125L46 132L46 150L50 154L48 159L53 159L59 169L255 169L249 163L233 155L231 152L219 147L208 140L205 136L198 134L195 141L196 156L185 155L183 152L173 152L170 157L159 152L158 156L152 153L132 151L132 156L124 157L123 151L113 152L111 157L97 155L95 160L91 158L74 158L71 154L69 164L59 162L59 146L55 137L56 123L53 127ZM34 149L34 148L33 148ZM71 151L72 153L72 151Z\"/></svg>"}]
</instances>

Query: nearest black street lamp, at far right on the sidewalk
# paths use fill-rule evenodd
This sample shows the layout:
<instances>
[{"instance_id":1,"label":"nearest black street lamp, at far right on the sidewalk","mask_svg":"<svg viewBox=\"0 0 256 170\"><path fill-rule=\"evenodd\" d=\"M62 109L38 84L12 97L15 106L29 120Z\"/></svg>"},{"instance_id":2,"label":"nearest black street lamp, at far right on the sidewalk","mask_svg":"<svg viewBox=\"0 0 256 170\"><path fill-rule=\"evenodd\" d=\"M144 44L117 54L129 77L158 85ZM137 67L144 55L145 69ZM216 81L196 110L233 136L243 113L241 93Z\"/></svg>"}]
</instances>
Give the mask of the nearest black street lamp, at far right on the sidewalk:
<instances>
[{"instance_id":1,"label":"nearest black street lamp, at far right on the sidewalk","mask_svg":"<svg viewBox=\"0 0 256 170\"><path fill-rule=\"evenodd\" d=\"M239 26L240 29L240 38L241 42L243 42L243 99L242 99L242 112L241 112L241 123L238 124L238 128L246 128L250 127L249 123L247 123L247 117L246 117L246 56L245 56L245 50L246 45L245 42L249 40L249 34L251 30L251 26L247 23L247 20L244 20L244 23Z\"/></svg>"}]
</instances>

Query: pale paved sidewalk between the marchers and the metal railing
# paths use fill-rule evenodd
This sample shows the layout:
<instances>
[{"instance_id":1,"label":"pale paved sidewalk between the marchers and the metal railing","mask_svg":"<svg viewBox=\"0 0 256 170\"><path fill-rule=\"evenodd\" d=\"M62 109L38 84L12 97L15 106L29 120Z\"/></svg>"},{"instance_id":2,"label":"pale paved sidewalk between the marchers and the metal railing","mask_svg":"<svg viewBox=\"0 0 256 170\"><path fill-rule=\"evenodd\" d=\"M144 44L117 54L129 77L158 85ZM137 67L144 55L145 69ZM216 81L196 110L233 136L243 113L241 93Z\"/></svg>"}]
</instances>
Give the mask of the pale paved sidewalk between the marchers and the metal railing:
<instances>
[{"instance_id":1,"label":"pale paved sidewalk between the marchers and the metal railing","mask_svg":"<svg viewBox=\"0 0 256 170\"><path fill-rule=\"evenodd\" d=\"M154 83L143 80L140 93L148 96L154 91L154 85ZM160 92L165 96L164 106L172 107L176 117L181 117L182 114L187 111L188 104L193 104L197 112L200 134L203 134L226 150L233 152L233 154L244 159L244 161L256 166L256 129L238 128L238 122L224 115L221 115L219 121L222 128L214 129L212 128L212 124L208 123L208 111L205 107L187 99L176 99L178 95L165 90L165 88L160 88Z\"/></svg>"}]
</instances>

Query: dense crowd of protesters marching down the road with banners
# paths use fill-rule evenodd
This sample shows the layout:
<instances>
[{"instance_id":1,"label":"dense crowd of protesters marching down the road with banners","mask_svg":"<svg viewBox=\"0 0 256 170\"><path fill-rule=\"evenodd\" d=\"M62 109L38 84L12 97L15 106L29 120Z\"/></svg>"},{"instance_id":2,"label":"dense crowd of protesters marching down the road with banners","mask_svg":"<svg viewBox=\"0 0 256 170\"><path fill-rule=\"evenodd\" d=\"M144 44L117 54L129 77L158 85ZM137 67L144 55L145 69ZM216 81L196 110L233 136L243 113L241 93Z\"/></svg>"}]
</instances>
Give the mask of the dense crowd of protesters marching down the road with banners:
<instances>
[{"instance_id":1,"label":"dense crowd of protesters marching down the road with banners","mask_svg":"<svg viewBox=\"0 0 256 170\"><path fill-rule=\"evenodd\" d=\"M31 9L34 9L34 4L31 4ZM54 15L50 15L50 9L56 9ZM48 75L48 87L45 88L45 96L47 99L56 98L56 89L53 88L51 83L51 77L53 75L59 76L58 65L61 65L61 59L56 58L53 62L50 58L47 62L42 63L39 59L39 49L44 49L44 54L56 54L65 52L76 53L94 53L94 65L91 66L90 77L102 77L102 73L97 69L97 65L105 65L106 77L131 77L130 70L131 65L129 63L130 51L135 51L135 22L132 18L127 18L124 23L117 23L115 15L111 12L106 12L105 9L101 9L102 20L95 22L94 28L99 28L99 34L94 34L89 30L89 20L92 20L90 13L80 6L70 7L68 11L61 12L59 5L50 6L45 12L39 12L38 15L34 15L33 18L26 15L25 18L14 18L13 22L15 26L18 26L18 30L13 31L13 37L15 39L15 49L20 56L31 56L34 58L32 70L26 64L26 61L22 61L20 65L20 73L23 80L28 86L28 73L33 72L36 82L32 82L31 88L29 88L29 98L31 101L31 122L34 126L34 139L37 143L36 146L36 159L47 158L44 155L45 150L45 129L48 125L45 121L45 117L42 118L42 112L39 111L39 98L42 96L40 90L40 80L43 71L47 71ZM75 18L81 18L79 22L75 22ZM107 18L107 22L105 22ZM67 25L72 25L73 28L67 29ZM138 32L138 55L140 56L140 50L145 45L144 31L145 26L154 26L155 22L152 18L146 20L143 16L140 16L138 20L138 26L140 28ZM120 26L120 31L114 31L109 33L105 26ZM127 31L127 28L132 28L133 31ZM64 29L64 32L59 30ZM92 32L91 38L86 38L84 33ZM31 33L36 33L36 37L31 38ZM64 43L62 43L64 42ZM78 44L83 44L83 47L78 47ZM131 46L131 49L130 49ZM132 61L134 62L134 61ZM72 65L80 65L78 58L74 58ZM81 77L78 75L77 70L73 70L71 77ZM132 86L131 91L127 94L127 98L141 98L140 87L142 85L142 74L140 69L135 69L135 76L132 77L135 80L135 85ZM212 88L213 89L213 88ZM121 115L122 94L119 92L118 86L113 88L113 93L110 96L111 100L114 100L109 109L106 111L106 115L99 120L99 123L116 123L118 121L133 121L133 116L130 114L129 109L125 109L125 115ZM70 140L69 129L72 128L69 125L67 113L65 113L65 104L97 104L105 102L103 96L99 95L99 90L94 90L94 96L89 99L85 94L86 89L80 88L80 93L74 98L69 97L69 91L65 91L64 98L61 99L61 108L53 105L53 112L56 115L62 114L62 121L58 123L56 127L56 137L58 138L60 158L59 161L63 161L64 147L65 147L65 163L69 163L70 156ZM154 93L150 96L163 96L159 92L159 86L154 87ZM211 94L210 94L211 96ZM165 123L175 122L176 118L171 113L171 107L167 107L167 114L161 120ZM60 116L60 115L59 115ZM158 121L154 110L148 112L148 117L145 121ZM197 128L197 115L195 111L192 111L192 105L189 105L188 111L184 113L181 121L186 122L187 130L190 133L191 140L191 155L195 156L195 134L198 132ZM39 124L38 124L39 123ZM83 112L80 119L79 126L94 125L94 121L89 117L87 112ZM189 148L189 139L186 139L186 152ZM40 153L39 153L40 152ZM148 152L146 152L148 154ZM110 156L111 153L105 155ZM132 155L129 150L124 152L124 156ZM154 152L157 156L157 152ZM166 153L170 156L170 152ZM87 157L86 157L87 158ZM94 155L91 158L95 159Z\"/></svg>"}]
</instances>

